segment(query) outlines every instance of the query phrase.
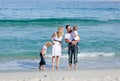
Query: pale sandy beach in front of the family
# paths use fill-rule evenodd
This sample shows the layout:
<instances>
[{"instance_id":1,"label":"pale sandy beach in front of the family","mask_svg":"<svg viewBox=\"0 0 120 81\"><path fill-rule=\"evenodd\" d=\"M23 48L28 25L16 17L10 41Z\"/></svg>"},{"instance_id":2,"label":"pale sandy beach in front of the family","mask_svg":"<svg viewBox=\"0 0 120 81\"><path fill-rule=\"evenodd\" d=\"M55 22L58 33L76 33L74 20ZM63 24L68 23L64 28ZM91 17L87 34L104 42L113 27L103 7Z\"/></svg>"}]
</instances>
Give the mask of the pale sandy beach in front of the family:
<instances>
[{"instance_id":1,"label":"pale sandy beach in front of the family","mask_svg":"<svg viewBox=\"0 0 120 81\"><path fill-rule=\"evenodd\" d=\"M0 81L120 81L120 69L1 72Z\"/></svg>"}]
</instances>

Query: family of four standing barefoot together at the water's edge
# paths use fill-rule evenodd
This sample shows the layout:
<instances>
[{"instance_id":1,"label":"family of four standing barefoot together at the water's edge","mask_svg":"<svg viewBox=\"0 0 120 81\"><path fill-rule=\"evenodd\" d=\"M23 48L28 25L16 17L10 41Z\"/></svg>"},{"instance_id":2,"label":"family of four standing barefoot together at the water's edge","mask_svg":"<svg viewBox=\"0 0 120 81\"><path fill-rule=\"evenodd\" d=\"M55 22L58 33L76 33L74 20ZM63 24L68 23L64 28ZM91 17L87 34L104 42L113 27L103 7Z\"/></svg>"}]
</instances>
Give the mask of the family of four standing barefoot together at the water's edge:
<instances>
[{"instance_id":1,"label":"family of four standing barefoot together at the water's edge","mask_svg":"<svg viewBox=\"0 0 120 81\"><path fill-rule=\"evenodd\" d=\"M46 61L45 61L45 54L47 52L47 48L52 46L52 70L54 70L54 63L56 61L56 70L59 70L59 61L62 51L62 38L63 35L65 36L65 42L68 44L68 69L72 68L72 59L74 59L74 69L77 69L77 62L78 62L78 44L80 41L80 36L78 35L77 26L73 26L71 29L70 25L66 25L67 33L64 35L64 29L62 26L59 26L57 31L53 33L51 36L52 42L46 42L43 45L40 51L40 63L39 69L44 70Z\"/></svg>"}]
</instances>

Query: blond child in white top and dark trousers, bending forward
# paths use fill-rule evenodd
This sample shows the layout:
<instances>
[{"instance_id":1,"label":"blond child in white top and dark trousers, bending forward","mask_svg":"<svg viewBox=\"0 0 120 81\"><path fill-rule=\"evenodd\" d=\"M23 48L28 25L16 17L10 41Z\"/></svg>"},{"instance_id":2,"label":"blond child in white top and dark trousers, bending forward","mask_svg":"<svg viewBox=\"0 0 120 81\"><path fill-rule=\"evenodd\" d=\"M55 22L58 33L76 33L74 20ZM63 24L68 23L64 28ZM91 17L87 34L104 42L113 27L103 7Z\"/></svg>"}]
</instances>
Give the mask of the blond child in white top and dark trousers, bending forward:
<instances>
[{"instance_id":1,"label":"blond child in white top and dark trousers, bending forward","mask_svg":"<svg viewBox=\"0 0 120 81\"><path fill-rule=\"evenodd\" d=\"M44 70L45 69L45 64L46 64L46 61L45 61L45 54L47 52L47 48L49 46L52 46L52 43L51 42L46 42L45 45L42 47L41 51L40 51L40 63L39 63L39 69L41 70Z\"/></svg>"}]
</instances>

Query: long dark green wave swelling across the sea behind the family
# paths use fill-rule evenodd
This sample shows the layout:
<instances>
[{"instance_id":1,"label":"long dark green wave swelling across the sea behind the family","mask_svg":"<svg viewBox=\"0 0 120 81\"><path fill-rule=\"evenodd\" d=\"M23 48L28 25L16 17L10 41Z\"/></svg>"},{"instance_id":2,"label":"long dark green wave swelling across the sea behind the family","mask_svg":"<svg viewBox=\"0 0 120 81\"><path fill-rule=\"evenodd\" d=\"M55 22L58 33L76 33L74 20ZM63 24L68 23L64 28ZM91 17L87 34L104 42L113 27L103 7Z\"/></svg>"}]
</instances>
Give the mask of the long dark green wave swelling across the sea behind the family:
<instances>
[{"instance_id":1,"label":"long dark green wave swelling across the sea behind the family","mask_svg":"<svg viewBox=\"0 0 120 81\"><path fill-rule=\"evenodd\" d=\"M120 24L120 19L87 19L87 18L47 18L47 19L21 19L21 20L0 20L0 25L21 25L21 24L34 24L34 25L45 25L45 24L63 24L63 23L79 23L79 24Z\"/></svg>"}]
</instances>

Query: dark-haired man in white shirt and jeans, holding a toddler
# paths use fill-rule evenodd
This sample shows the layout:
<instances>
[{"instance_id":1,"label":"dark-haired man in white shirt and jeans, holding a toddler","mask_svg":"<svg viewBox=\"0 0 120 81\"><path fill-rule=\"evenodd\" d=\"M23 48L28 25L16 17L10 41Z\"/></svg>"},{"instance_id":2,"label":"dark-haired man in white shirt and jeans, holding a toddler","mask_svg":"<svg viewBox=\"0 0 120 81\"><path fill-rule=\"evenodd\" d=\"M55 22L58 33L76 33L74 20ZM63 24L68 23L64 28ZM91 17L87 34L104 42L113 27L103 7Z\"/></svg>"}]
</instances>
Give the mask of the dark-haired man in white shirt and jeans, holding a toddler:
<instances>
[{"instance_id":1,"label":"dark-haired man in white shirt and jeans, holding a toddler","mask_svg":"<svg viewBox=\"0 0 120 81\"><path fill-rule=\"evenodd\" d=\"M77 41L71 42L71 26L70 25L66 25L66 30L67 33L65 34L65 42L68 43L68 60L69 60L69 65L68 65L68 69L71 69L72 66L72 58L74 56L74 69L77 69L77 59L78 59L78 45Z\"/></svg>"}]
</instances>

